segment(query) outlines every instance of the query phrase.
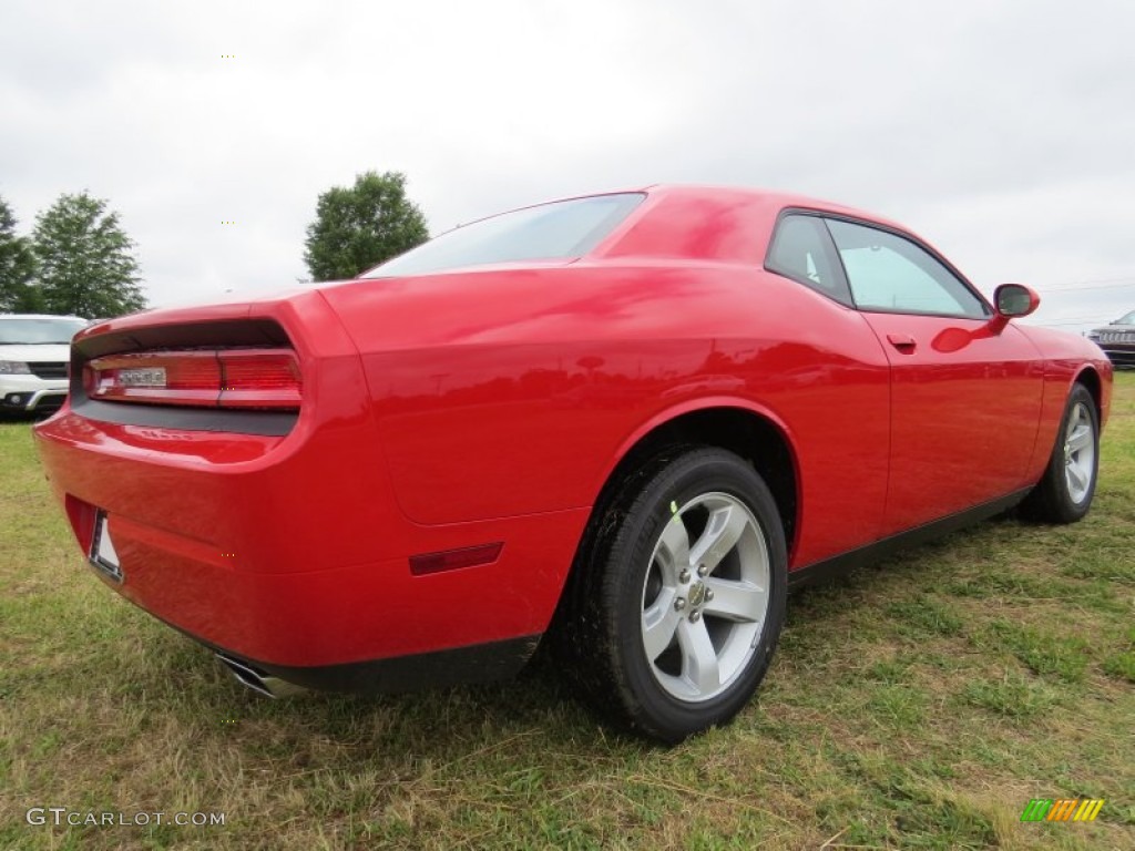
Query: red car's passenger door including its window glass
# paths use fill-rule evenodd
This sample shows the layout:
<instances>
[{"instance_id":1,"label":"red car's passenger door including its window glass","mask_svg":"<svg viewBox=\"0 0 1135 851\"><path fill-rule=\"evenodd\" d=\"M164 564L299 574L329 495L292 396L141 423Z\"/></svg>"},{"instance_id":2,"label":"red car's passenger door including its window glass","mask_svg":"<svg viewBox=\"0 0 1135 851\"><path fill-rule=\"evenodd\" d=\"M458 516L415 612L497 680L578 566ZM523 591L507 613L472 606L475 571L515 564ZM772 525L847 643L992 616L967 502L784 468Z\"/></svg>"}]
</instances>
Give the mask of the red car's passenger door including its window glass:
<instances>
[{"instance_id":1,"label":"red car's passenger door including its window glass","mask_svg":"<svg viewBox=\"0 0 1135 851\"><path fill-rule=\"evenodd\" d=\"M1017 328L990 330L976 290L899 231L827 220L856 307L891 364L884 534L1024 487L1043 364Z\"/></svg>"}]
</instances>

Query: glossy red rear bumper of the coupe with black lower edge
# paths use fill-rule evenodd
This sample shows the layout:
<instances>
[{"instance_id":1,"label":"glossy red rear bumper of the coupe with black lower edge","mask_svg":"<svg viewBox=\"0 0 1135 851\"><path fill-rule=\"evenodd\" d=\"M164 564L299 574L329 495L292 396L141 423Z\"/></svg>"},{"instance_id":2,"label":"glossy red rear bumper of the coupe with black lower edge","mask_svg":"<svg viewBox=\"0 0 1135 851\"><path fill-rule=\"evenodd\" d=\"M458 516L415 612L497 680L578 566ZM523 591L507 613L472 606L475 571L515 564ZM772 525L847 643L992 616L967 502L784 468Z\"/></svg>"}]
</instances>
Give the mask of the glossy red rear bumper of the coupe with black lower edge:
<instances>
[{"instance_id":1,"label":"glossy red rear bumper of the coupe with black lower edge","mask_svg":"<svg viewBox=\"0 0 1135 851\"><path fill-rule=\"evenodd\" d=\"M257 436L109 423L65 407L36 437L87 555L106 514L123 579L92 572L213 649L316 688L510 673L550 621L587 509L414 524L393 498L370 422L301 415L286 436ZM491 563L410 567L414 555L495 542ZM464 662L437 656L459 649Z\"/></svg>"}]
</instances>

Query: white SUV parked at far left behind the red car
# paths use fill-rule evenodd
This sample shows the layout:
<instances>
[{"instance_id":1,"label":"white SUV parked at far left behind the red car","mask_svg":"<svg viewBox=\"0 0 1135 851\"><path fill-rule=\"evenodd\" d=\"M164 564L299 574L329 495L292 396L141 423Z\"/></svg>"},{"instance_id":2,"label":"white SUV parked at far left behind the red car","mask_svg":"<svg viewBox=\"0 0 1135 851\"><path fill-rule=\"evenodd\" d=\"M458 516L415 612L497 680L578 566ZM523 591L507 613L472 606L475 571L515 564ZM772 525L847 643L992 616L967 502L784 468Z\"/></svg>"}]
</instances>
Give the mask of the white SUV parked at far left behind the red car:
<instances>
[{"instance_id":1,"label":"white SUV parked at far left behind the red car","mask_svg":"<svg viewBox=\"0 0 1135 851\"><path fill-rule=\"evenodd\" d=\"M78 317L0 313L0 411L51 411L67 398Z\"/></svg>"}]
</instances>

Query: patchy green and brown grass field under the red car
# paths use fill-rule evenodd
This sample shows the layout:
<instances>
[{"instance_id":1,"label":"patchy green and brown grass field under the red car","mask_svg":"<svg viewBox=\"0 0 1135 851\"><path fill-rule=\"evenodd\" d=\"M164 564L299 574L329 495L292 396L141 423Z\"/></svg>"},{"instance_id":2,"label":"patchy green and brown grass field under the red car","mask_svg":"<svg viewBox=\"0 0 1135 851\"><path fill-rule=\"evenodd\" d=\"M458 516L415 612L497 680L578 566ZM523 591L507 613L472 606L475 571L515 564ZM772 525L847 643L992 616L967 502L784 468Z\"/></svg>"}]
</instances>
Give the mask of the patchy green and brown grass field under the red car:
<instances>
[{"instance_id":1,"label":"patchy green and brown grass field under the red car","mask_svg":"<svg viewBox=\"0 0 1135 851\"><path fill-rule=\"evenodd\" d=\"M797 596L758 699L673 749L599 726L547 662L258 698L87 571L27 423L0 424L0 848L1135 849L1133 373L1086 520L1000 519ZM1019 821L1077 797L1095 823Z\"/></svg>"}]
</instances>

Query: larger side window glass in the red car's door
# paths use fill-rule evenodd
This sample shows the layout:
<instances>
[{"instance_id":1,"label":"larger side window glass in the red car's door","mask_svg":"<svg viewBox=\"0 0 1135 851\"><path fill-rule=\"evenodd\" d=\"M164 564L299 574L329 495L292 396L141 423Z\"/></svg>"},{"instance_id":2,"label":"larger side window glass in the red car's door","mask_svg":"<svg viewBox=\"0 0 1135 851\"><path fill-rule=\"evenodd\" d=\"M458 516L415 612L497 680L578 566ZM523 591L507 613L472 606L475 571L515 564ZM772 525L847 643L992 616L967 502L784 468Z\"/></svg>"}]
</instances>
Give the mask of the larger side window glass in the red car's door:
<instances>
[{"instance_id":1,"label":"larger side window glass in the red car's door","mask_svg":"<svg viewBox=\"0 0 1135 851\"><path fill-rule=\"evenodd\" d=\"M925 250L885 230L827 220L859 310L987 315L985 305Z\"/></svg>"}]
</instances>

